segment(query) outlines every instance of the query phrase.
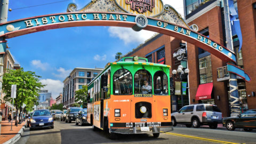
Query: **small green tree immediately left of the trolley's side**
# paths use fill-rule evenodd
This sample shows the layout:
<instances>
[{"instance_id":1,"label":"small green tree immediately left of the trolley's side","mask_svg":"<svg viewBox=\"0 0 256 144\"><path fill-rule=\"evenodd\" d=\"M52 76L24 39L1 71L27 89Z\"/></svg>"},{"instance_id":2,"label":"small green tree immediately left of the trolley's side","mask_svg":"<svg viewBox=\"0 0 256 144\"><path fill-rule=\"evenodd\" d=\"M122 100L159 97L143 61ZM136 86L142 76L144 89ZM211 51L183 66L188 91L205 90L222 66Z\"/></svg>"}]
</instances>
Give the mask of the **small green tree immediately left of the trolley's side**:
<instances>
[{"instance_id":1,"label":"small green tree immediately left of the trolley's side","mask_svg":"<svg viewBox=\"0 0 256 144\"><path fill-rule=\"evenodd\" d=\"M87 85L83 85L82 89L76 91L75 102L78 102L79 100L82 100L83 101L83 107L86 107L87 95L88 95L88 87L87 87Z\"/></svg>"}]
</instances>

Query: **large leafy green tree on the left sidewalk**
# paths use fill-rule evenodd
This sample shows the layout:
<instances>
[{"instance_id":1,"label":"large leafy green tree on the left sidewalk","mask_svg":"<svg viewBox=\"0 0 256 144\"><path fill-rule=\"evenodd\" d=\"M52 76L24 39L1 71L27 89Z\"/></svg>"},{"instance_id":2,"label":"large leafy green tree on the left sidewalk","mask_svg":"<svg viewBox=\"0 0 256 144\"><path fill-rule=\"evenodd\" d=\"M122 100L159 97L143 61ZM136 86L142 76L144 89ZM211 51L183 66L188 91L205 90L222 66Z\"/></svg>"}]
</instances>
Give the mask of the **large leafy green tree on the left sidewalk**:
<instances>
[{"instance_id":1,"label":"large leafy green tree on the left sidewalk","mask_svg":"<svg viewBox=\"0 0 256 144\"><path fill-rule=\"evenodd\" d=\"M17 85L16 98L14 99L14 107L20 108L22 111L22 104L25 103L26 110L30 111L33 109L34 105L37 104L38 92L41 87L44 87L39 78L33 71L24 71L23 68L17 70L6 69L6 73L3 75L3 92L6 94L4 97L5 101L12 103L11 98L11 86L13 84ZM17 122L16 122L17 123Z\"/></svg>"}]
</instances>

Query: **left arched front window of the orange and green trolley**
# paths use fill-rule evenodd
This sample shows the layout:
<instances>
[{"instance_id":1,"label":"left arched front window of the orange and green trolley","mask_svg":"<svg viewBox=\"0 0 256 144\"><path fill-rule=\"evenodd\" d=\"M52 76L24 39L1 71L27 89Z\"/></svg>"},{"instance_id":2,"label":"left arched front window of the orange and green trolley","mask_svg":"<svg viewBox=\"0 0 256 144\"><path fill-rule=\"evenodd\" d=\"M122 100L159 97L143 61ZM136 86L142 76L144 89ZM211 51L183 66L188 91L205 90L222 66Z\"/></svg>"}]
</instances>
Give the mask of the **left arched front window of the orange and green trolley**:
<instances>
[{"instance_id":1,"label":"left arched front window of the orange and green trolley","mask_svg":"<svg viewBox=\"0 0 256 144\"><path fill-rule=\"evenodd\" d=\"M132 74L127 69L118 69L113 76L113 93L115 95L132 94Z\"/></svg>"}]
</instances>

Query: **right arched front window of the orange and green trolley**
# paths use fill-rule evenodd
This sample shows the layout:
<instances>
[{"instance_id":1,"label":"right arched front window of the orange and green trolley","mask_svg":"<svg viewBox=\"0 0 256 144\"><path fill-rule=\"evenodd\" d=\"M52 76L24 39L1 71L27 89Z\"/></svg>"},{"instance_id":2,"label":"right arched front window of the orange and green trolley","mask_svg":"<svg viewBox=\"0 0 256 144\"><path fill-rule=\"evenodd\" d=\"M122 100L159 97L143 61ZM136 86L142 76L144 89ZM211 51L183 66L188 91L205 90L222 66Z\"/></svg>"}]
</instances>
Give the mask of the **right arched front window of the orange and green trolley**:
<instances>
[{"instance_id":1,"label":"right arched front window of the orange and green trolley","mask_svg":"<svg viewBox=\"0 0 256 144\"><path fill-rule=\"evenodd\" d=\"M157 71L154 75L154 94L168 95L168 78L163 71Z\"/></svg>"}]
</instances>

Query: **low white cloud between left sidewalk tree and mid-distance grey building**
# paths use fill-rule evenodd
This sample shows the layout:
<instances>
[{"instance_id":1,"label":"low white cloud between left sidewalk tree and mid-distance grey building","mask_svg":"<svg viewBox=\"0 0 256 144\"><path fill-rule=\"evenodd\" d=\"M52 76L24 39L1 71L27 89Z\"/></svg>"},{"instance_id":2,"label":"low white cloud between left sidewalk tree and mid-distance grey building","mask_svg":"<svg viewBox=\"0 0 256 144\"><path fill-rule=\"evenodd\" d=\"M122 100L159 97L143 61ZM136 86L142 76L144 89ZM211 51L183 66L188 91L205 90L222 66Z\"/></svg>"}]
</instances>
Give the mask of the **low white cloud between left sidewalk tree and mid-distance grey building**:
<instances>
[{"instance_id":1,"label":"low white cloud between left sidewalk tree and mid-distance grey building","mask_svg":"<svg viewBox=\"0 0 256 144\"><path fill-rule=\"evenodd\" d=\"M63 83L59 80L54 79L41 79L40 82L46 85L42 90L48 90L52 93L52 98L56 99L63 91Z\"/></svg>"}]
</instances>

